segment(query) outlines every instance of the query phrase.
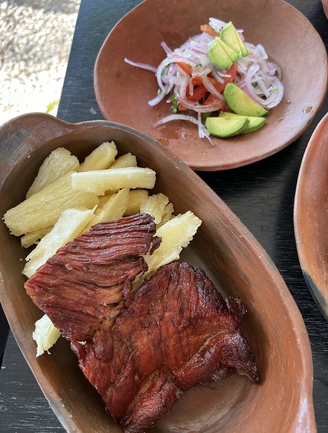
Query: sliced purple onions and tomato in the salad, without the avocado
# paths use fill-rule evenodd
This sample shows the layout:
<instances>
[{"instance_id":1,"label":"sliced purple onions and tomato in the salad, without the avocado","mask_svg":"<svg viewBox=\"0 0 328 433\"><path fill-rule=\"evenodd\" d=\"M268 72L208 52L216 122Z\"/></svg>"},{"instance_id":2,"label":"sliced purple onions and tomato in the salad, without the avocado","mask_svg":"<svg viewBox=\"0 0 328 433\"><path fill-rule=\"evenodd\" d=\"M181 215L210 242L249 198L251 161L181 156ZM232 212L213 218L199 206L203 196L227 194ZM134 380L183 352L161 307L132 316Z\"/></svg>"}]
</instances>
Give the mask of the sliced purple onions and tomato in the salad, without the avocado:
<instances>
[{"instance_id":1,"label":"sliced purple onions and tomato in the salad, without the avocado","mask_svg":"<svg viewBox=\"0 0 328 433\"><path fill-rule=\"evenodd\" d=\"M211 63L209 46L220 36L225 25L224 21L210 18L209 24L200 27L200 34L189 38L174 51L166 42L161 42L167 57L158 67L125 59L128 64L155 74L159 89L156 97L148 102L150 106L163 100L172 104L172 115L158 120L154 127L174 120L186 120L197 125L200 138L206 137L212 143L203 122L212 113L227 110L223 91L231 82L265 109L274 108L281 102L284 93L281 68L268 61L261 44L255 46L246 42L243 30L238 30L238 34L248 56L227 69Z\"/></svg>"}]
</instances>

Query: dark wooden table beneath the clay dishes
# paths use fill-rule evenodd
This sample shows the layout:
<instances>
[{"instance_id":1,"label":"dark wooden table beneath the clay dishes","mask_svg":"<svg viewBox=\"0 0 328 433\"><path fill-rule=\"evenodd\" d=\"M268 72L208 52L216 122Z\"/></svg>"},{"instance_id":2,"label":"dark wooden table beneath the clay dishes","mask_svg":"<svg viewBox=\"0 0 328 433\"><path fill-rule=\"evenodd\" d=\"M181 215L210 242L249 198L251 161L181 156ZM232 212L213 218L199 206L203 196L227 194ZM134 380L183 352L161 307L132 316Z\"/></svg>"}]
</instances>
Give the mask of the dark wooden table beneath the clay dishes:
<instances>
[{"instance_id":1,"label":"dark wooden table beneath the clay dishes","mask_svg":"<svg viewBox=\"0 0 328 433\"><path fill-rule=\"evenodd\" d=\"M95 58L108 32L138 3L139 0L82 0L59 118L74 123L102 119L93 91ZM327 46L328 21L321 1L290 0L289 3L311 21ZM276 263L301 311L313 354L318 433L328 431L328 323L314 303L301 272L293 231L293 204L304 150L313 129L327 111L326 99L309 129L277 155L234 170L198 173L257 237ZM0 433L54 431L65 433L9 333L0 371Z\"/></svg>"}]
</instances>

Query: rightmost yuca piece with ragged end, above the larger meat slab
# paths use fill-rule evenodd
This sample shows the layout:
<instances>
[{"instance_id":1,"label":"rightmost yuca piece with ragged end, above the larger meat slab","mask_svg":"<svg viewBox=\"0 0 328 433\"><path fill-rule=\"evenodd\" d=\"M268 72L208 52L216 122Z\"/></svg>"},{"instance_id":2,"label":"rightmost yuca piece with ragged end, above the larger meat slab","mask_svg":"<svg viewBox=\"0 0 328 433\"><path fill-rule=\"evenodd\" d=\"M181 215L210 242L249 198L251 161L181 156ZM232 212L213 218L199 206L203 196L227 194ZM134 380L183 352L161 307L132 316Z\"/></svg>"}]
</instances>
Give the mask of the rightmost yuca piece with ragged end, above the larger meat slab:
<instances>
[{"instance_id":1,"label":"rightmost yuca piece with ragged end, above the larger meat slab","mask_svg":"<svg viewBox=\"0 0 328 433\"><path fill-rule=\"evenodd\" d=\"M201 220L188 211L175 216L159 227L156 230L156 236L161 237L161 243L151 255L144 256L148 271L143 277L156 272L160 266L178 260L181 250L187 247L200 224Z\"/></svg>"}]
</instances>

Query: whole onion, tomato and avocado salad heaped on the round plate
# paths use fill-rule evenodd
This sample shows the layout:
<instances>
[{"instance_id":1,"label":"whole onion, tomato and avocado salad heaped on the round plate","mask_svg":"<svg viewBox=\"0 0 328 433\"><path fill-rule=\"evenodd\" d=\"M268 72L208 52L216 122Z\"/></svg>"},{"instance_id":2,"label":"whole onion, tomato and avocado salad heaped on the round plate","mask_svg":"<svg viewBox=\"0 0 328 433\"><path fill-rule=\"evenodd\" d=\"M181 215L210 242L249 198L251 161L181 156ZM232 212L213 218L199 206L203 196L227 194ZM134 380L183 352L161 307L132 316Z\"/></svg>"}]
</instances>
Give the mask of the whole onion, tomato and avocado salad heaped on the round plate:
<instances>
[{"instance_id":1,"label":"whole onion, tomato and avocado salad heaped on the round plate","mask_svg":"<svg viewBox=\"0 0 328 433\"><path fill-rule=\"evenodd\" d=\"M265 125L262 116L283 98L281 68L268 60L261 44L246 42L243 30L237 31L231 21L210 18L200 30L174 51L162 41L167 57L157 68L125 59L155 73L159 89L150 106L164 99L172 103L173 114L154 127L186 120L195 123L199 137L211 143L210 134L230 137L258 130Z\"/></svg>"}]
</instances>

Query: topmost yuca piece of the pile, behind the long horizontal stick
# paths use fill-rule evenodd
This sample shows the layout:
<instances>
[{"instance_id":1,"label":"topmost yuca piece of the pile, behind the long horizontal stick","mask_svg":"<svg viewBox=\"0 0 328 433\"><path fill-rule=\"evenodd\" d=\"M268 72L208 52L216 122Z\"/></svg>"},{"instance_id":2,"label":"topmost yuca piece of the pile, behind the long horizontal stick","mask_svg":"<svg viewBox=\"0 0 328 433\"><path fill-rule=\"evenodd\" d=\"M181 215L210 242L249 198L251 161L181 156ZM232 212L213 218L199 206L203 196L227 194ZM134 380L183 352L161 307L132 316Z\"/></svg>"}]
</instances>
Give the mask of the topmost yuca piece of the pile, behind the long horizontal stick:
<instances>
[{"instance_id":1,"label":"topmost yuca piece of the pile, behind the long horizontal stick","mask_svg":"<svg viewBox=\"0 0 328 433\"><path fill-rule=\"evenodd\" d=\"M103 170L115 160L117 148L114 141L105 141L88 155L77 171Z\"/></svg>"}]
</instances>

